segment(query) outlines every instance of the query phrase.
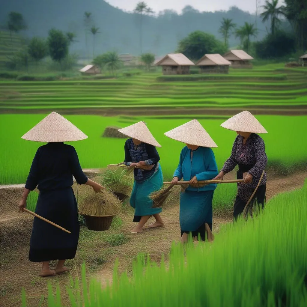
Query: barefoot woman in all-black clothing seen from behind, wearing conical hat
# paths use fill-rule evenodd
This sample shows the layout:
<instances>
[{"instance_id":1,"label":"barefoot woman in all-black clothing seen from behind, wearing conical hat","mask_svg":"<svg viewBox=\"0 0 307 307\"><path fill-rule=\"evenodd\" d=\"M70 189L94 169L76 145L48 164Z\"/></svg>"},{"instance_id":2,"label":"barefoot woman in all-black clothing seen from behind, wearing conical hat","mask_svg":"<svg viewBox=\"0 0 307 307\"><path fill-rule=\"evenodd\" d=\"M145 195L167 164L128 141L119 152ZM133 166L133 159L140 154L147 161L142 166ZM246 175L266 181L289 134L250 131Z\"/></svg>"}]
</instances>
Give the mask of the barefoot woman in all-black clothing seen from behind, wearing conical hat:
<instances>
[{"instance_id":1,"label":"barefoot woman in all-black clothing seen from behind, wearing conical hat","mask_svg":"<svg viewBox=\"0 0 307 307\"><path fill-rule=\"evenodd\" d=\"M68 271L64 267L66 259L76 255L80 231L73 177L78 184L91 185L96 192L103 187L87 178L75 148L63 143L87 136L61 115L52 112L22 138L47 144L39 147L35 154L19 203L20 210L26 207L29 192L37 186L39 196L35 213L71 232L68 234L34 217L29 260L43 262L42 277L63 274ZM49 268L51 260L59 260L55 272Z\"/></svg>"}]
</instances>

